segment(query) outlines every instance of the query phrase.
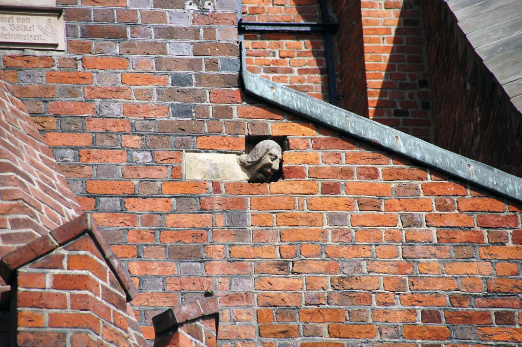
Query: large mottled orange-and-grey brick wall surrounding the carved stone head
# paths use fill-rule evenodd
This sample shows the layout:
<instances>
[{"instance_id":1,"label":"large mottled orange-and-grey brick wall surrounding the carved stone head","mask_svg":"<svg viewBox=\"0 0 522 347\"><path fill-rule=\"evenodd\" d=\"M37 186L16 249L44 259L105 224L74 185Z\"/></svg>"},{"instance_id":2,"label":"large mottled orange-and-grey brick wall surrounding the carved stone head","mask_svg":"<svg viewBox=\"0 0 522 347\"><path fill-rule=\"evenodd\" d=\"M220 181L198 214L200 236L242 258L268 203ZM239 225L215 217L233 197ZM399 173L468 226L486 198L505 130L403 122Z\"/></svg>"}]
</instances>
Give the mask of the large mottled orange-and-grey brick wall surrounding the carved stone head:
<instances>
[{"instance_id":1,"label":"large mottled orange-and-grey brick wall surrounding the carved stone head","mask_svg":"<svg viewBox=\"0 0 522 347\"><path fill-rule=\"evenodd\" d=\"M65 56L2 58L138 284L145 338L213 292L226 347L520 342L520 206L245 97L235 2L203 6L66 5ZM260 137L288 140L279 182L185 179L184 153Z\"/></svg>"}]
</instances>

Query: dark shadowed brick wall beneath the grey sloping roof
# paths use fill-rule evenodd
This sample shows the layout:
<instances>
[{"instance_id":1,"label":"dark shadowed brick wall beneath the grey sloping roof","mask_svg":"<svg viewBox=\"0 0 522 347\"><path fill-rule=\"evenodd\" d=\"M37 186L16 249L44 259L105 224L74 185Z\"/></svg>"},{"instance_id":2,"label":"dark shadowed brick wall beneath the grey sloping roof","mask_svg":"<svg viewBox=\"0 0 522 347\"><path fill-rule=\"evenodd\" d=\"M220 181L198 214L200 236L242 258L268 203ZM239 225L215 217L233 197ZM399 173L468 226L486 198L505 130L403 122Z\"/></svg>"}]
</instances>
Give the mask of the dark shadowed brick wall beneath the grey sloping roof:
<instances>
[{"instance_id":1,"label":"dark shadowed brick wall beneath the grey sloping roof","mask_svg":"<svg viewBox=\"0 0 522 347\"><path fill-rule=\"evenodd\" d=\"M443 2L423 2L434 143L522 176L520 112Z\"/></svg>"}]
</instances>

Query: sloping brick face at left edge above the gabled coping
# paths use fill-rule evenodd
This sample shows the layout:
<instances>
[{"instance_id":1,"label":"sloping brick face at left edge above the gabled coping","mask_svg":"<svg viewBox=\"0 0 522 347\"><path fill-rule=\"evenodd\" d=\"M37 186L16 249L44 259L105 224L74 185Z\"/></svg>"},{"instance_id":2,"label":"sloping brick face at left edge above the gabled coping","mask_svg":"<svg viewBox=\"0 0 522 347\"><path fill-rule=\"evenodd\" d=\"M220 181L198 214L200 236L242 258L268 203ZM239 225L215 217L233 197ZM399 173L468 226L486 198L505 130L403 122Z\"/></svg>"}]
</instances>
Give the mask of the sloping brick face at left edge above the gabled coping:
<instances>
[{"instance_id":1,"label":"sloping brick face at left edge above the gabled coping","mask_svg":"<svg viewBox=\"0 0 522 347\"><path fill-rule=\"evenodd\" d=\"M0 81L0 257L81 213L14 89Z\"/></svg>"}]
</instances>

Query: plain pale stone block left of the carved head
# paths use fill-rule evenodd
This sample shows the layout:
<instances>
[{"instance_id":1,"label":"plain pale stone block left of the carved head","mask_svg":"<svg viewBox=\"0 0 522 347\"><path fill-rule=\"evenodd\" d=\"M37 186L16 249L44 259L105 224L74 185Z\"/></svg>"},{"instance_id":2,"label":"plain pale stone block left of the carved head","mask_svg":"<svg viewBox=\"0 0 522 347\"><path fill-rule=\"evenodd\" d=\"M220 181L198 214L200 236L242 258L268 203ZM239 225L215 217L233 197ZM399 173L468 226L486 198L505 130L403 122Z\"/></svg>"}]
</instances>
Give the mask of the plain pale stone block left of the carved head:
<instances>
[{"instance_id":1,"label":"plain pale stone block left of the carved head","mask_svg":"<svg viewBox=\"0 0 522 347\"><path fill-rule=\"evenodd\" d=\"M238 155L224 153L185 153L187 180L247 181L248 172Z\"/></svg>"}]
</instances>

